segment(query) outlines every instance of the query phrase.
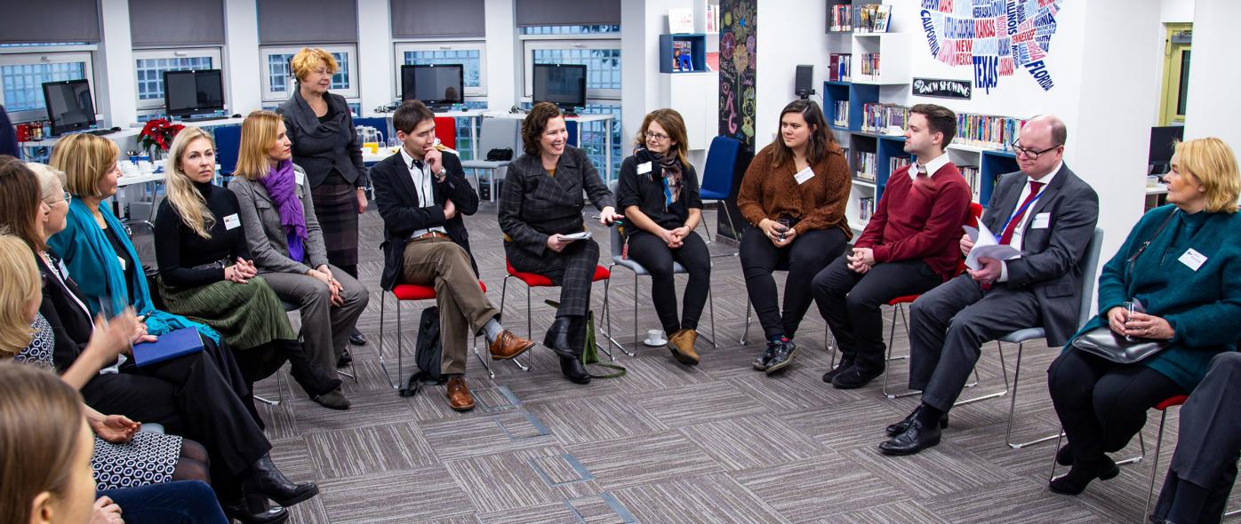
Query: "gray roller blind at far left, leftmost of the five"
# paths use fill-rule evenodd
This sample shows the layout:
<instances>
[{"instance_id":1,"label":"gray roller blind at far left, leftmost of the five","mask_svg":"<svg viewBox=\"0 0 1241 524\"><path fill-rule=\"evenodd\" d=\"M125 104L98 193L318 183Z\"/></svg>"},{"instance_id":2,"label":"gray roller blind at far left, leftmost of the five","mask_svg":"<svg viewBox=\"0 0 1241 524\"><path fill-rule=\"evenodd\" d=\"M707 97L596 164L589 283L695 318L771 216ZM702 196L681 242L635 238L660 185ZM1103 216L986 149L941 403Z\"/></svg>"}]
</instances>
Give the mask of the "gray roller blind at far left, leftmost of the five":
<instances>
[{"instance_id":1,"label":"gray roller blind at far left, leftmost of the five","mask_svg":"<svg viewBox=\"0 0 1241 524\"><path fill-rule=\"evenodd\" d=\"M0 43L98 42L98 0L60 0L52 7L41 1L4 2Z\"/></svg>"}]
</instances>

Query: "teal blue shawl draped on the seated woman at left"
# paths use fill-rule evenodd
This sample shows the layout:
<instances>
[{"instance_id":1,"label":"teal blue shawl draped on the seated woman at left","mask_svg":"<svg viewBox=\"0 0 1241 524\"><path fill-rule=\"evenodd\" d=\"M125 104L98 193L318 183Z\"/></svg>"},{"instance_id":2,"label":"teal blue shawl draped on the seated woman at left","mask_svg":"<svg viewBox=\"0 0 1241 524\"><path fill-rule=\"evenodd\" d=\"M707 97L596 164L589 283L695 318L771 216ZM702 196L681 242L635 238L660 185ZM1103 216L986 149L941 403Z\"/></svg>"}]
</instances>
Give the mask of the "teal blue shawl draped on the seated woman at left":
<instances>
[{"instance_id":1,"label":"teal blue shawl draped on the seated woman at left","mask_svg":"<svg viewBox=\"0 0 1241 524\"><path fill-rule=\"evenodd\" d=\"M112 209L105 204L99 206L99 214L108 223L108 229L117 233L120 243L125 247L125 253L135 263L138 253L134 245L124 234L124 225L112 214ZM107 233L94 223L91 209L74 198L69 203L68 221L65 230L52 235L47 240L48 249L56 254L69 270L69 275L76 276L78 289L92 300L87 300L91 315L99 315L99 301L109 301L109 310L113 313L120 312L133 305L138 315L146 316L146 332L154 336L169 333L184 327L192 327L217 344L220 333L208 326L192 322L180 315L168 313L156 310L151 305L150 290L146 287L146 279L140 268L134 268L135 279L125 282L125 271L120 269L117 251L108 242ZM133 300L130 300L133 297Z\"/></svg>"}]
</instances>

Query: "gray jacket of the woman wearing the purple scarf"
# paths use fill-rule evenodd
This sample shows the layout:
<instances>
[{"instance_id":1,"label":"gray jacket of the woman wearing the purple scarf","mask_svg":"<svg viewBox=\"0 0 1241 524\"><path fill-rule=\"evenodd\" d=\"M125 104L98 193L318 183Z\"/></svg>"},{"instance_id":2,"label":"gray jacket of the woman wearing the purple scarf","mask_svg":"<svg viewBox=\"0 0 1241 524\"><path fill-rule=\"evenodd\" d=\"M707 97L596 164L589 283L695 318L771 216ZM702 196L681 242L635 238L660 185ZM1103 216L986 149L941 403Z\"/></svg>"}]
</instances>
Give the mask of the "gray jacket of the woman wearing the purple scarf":
<instances>
[{"instance_id":1,"label":"gray jacket of the woman wearing the purple scarf","mask_svg":"<svg viewBox=\"0 0 1241 524\"><path fill-rule=\"evenodd\" d=\"M307 258L311 266L318 268L328 264L328 248L323 244L323 229L319 228L319 219L314 214L310 188L304 183L307 172L297 164L293 165L293 171L303 181L298 185L298 199L302 201L302 211L307 219L309 237L304 243ZM280 209L272 202L272 196L262 183L236 176L228 182L228 190L237 194L246 244L249 245L249 254L254 258L254 266L259 273L304 274L311 269L289 258L289 239L284 225L280 225Z\"/></svg>"}]
</instances>

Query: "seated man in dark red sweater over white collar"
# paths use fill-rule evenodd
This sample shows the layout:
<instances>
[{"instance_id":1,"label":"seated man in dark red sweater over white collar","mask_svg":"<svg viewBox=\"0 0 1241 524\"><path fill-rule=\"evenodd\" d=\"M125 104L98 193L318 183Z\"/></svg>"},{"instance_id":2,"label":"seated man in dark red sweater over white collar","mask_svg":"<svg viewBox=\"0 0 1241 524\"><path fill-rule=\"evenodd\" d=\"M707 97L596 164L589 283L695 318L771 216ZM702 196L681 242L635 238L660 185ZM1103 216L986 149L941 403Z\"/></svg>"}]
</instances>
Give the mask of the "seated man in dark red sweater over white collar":
<instances>
[{"instance_id":1,"label":"seated man in dark red sweater over white collar","mask_svg":"<svg viewBox=\"0 0 1241 524\"><path fill-rule=\"evenodd\" d=\"M880 306L930 291L957 273L957 240L969 216L969 183L944 154L957 115L934 104L910 109L905 152L917 164L896 170L853 253L814 277L814 301L840 348L840 365L823 375L836 389L861 388L884 373Z\"/></svg>"}]
</instances>

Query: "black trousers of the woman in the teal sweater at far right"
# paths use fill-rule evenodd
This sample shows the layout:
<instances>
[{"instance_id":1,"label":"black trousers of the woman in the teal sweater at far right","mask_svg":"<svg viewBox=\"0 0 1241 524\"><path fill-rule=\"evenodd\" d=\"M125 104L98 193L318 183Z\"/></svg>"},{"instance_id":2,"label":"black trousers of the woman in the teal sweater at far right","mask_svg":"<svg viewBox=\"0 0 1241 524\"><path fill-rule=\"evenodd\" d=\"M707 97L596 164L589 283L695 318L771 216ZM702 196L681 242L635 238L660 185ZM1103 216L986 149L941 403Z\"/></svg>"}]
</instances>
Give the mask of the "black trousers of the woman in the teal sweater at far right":
<instances>
[{"instance_id":1,"label":"black trousers of the woman in the teal sweater at far right","mask_svg":"<svg viewBox=\"0 0 1241 524\"><path fill-rule=\"evenodd\" d=\"M1047 389L1073 462L1095 462L1121 451L1147 424L1147 410L1183 395L1170 378L1142 364L1117 364L1075 348L1047 368Z\"/></svg>"}]
</instances>

